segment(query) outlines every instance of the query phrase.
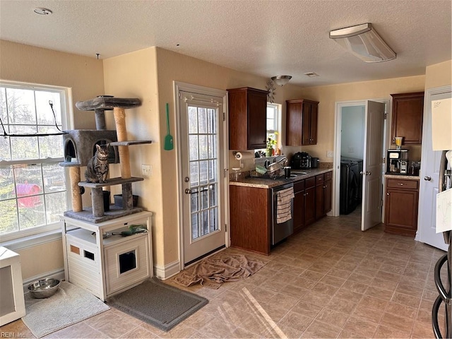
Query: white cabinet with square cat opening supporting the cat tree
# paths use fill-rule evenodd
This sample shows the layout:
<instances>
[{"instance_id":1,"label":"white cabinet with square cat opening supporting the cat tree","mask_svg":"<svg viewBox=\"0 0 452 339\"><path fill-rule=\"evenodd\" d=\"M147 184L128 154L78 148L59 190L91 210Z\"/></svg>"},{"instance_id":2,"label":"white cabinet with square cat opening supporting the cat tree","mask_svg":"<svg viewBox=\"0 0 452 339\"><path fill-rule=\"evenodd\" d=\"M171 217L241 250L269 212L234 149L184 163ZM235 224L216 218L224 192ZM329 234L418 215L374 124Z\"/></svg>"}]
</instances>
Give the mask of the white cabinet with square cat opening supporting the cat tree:
<instances>
[{"instance_id":1,"label":"white cabinet with square cat opening supporting the cat tree","mask_svg":"<svg viewBox=\"0 0 452 339\"><path fill-rule=\"evenodd\" d=\"M65 216L66 281L105 300L152 277L151 216L141 212L97 224ZM130 225L141 225L148 232L121 236Z\"/></svg>"}]
</instances>

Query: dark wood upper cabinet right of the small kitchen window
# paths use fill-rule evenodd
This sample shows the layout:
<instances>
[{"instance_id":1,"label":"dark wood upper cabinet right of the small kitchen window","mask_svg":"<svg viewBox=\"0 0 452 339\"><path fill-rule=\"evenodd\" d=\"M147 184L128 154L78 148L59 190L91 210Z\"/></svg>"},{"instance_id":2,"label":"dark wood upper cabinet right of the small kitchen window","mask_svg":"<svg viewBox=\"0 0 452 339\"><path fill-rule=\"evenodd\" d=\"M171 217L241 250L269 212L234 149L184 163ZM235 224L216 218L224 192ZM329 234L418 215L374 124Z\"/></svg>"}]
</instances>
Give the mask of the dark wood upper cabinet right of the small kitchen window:
<instances>
[{"instance_id":1,"label":"dark wood upper cabinet right of the small kitchen window","mask_svg":"<svg viewBox=\"0 0 452 339\"><path fill-rule=\"evenodd\" d=\"M319 102L286 101L286 145L316 145Z\"/></svg>"}]
</instances>

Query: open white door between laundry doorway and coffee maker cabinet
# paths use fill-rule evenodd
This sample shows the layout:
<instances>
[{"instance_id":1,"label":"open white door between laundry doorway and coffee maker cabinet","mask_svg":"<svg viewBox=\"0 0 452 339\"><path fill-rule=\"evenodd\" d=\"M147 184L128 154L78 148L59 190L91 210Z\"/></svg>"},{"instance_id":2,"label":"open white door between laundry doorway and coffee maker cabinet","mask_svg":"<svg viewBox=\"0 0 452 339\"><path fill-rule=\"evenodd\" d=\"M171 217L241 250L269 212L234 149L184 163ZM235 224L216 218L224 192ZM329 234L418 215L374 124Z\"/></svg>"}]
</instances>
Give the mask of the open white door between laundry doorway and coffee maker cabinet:
<instances>
[{"instance_id":1,"label":"open white door between laundry doorway and coffee maker cabinet","mask_svg":"<svg viewBox=\"0 0 452 339\"><path fill-rule=\"evenodd\" d=\"M361 230L381 222L383 206L383 131L384 108L381 102L367 101L365 107L364 161L362 168Z\"/></svg>"}]
</instances>

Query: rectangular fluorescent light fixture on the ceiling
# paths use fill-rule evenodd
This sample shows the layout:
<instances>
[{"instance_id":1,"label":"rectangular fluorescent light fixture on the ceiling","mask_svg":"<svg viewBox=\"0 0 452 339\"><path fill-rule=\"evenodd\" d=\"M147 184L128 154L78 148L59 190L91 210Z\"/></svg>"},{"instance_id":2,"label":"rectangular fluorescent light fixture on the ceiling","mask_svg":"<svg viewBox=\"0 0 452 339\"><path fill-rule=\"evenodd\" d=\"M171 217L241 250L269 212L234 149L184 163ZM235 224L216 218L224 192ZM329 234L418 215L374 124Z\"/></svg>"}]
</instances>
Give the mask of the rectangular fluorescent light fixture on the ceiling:
<instances>
[{"instance_id":1,"label":"rectangular fluorescent light fixture on the ceiling","mask_svg":"<svg viewBox=\"0 0 452 339\"><path fill-rule=\"evenodd\" d=\"M366 62L396 59L396 53L381 39L371 23L332 30L330 39Z\"/></svg>"}]
</instances>

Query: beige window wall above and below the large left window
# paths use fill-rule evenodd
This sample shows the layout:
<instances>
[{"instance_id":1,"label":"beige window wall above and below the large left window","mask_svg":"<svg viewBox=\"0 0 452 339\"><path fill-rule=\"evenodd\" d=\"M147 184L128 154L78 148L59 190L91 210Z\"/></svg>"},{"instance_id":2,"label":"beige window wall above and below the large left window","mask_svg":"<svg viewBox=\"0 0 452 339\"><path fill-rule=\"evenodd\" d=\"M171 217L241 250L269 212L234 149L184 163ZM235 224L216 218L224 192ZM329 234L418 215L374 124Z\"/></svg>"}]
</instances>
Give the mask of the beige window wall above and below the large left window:
<instances>
[{"instance_id":1,"label":"beige window wall above and below the large left window","mask_svg":"<svg viewBox=\"0 0 452 339\"><path fill-rule=\"evenodd\" d=\"M76 129L93 129L93 114L75 102L104 93L102 60L0 40L0 79L71 88ZM63 268L61 240L17 251L23 279ZM37 258L46 258L38 260Z\"/></svg>"}]
</instances>

